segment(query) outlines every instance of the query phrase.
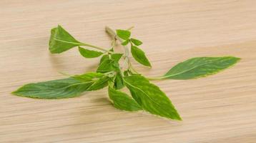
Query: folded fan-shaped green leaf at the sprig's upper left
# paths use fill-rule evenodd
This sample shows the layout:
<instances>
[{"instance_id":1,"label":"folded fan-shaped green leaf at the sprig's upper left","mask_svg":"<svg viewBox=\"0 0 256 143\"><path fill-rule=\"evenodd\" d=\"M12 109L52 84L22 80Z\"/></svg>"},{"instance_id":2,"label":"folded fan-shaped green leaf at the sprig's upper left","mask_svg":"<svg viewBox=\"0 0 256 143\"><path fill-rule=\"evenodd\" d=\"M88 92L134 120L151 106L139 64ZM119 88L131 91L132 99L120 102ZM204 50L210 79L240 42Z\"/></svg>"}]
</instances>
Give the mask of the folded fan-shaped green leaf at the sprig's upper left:
<instances>
[{"instance_id":1,"label":"folded fan-shaped green leaf at the sprig's upper left","mask_svg":"<svg viewBox=\"0 0 256 143\"><path fill-rule=\"evenodd\" d=\"M74 37L69 34L60 25L51 29L51 36L49 39L49 50L52 54L61 53L67 51L74 46L81 46L82 43L74 39Z\"/></svg>"}]
</instances>

